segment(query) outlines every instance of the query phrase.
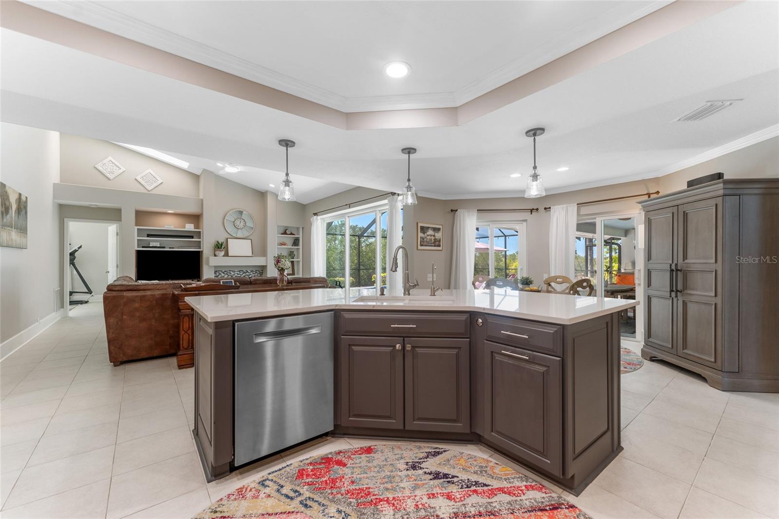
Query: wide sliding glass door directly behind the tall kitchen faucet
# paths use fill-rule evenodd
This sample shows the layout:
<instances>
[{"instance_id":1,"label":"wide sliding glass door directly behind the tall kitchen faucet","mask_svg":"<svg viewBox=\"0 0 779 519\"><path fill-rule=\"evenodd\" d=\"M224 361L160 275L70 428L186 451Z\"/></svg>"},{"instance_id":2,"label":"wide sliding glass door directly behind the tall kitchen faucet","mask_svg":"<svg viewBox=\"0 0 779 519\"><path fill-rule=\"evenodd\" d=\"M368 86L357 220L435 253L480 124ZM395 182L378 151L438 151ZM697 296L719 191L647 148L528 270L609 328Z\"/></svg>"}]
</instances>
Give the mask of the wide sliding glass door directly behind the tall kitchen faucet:
<instances>
[{"instance_id":1,"label":"wide sliding glass door directly behind the tall kitchen faucet","mask_svg":"<svg viewBox=\"0 0 779 519\"><path fill-rule=\"evenodd\" d=\"M386 286L386 205L355 210L325 222L325 265L330 286Z\"/></svg>"}]
</instances>

